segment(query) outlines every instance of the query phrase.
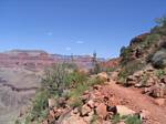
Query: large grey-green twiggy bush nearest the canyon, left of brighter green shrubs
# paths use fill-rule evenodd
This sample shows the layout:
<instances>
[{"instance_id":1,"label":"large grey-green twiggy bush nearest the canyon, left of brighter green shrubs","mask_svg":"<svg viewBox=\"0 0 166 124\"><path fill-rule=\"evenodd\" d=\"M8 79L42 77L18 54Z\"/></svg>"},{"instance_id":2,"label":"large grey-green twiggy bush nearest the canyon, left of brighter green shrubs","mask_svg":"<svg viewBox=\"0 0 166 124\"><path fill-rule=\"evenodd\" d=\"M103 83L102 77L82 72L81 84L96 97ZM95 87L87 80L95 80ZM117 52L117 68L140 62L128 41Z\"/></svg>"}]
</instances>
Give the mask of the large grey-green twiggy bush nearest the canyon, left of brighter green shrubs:
<instances>
[{"instance_id":1,"label":"large grey-green twiggy bush nearest the canyon, left of brighter green shrubs","mask_svg":"<svg viewBox=\"0 0 166 124\"><path fill-rule=\"evenodd\" d=\"M54 64L45 71L45 76L42 79L42 87L52 95L61 95L70 85L68 78L73 71L74 68L71 64Z\"/></svg>"}]
</instances>

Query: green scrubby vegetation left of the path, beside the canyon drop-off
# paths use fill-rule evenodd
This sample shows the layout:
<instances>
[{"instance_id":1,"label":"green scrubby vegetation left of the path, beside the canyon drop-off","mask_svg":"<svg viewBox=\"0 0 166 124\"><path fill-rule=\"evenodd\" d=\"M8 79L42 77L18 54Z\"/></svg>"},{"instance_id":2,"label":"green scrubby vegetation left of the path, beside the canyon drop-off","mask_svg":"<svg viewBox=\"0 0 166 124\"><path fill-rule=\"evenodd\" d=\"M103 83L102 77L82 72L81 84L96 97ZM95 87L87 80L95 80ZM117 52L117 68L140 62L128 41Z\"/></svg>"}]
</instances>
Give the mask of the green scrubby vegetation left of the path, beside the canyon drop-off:
<instances>
[{"instance_id":1,"label":"green scrubby vegetation left of the path, beside the canyon drop-off","mask_svg":"<svg viewBox=\"0 0 166 124\"><path fill-rule=\"evenodd\" d=\"M63 97L71 107L82 105L80 96L84 91L95 84L103 83L104 80L80 71L74 64L55 64L45 70L42 79L42 87L38 91L32 102L32 107L17 124L41 123L48 115L48 100L59 100ZM68 92L66 92L68 91ZM54 106L59 106L59 103Z\"/></svg>"}]
</instances>

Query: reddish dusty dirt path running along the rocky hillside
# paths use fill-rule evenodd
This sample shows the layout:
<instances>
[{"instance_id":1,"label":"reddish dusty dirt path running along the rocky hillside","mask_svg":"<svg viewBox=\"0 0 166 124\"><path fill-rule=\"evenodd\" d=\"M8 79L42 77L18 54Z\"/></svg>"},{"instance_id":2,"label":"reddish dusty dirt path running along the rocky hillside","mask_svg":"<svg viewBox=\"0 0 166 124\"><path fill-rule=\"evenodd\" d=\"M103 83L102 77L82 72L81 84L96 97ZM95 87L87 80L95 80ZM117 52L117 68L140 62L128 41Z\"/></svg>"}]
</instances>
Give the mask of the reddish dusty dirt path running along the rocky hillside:
<instances>
[{"instance_id":1,"label":"reddish dusty dirt path running along the rocky hillside","mask_svg":"<svg viewBox=\"0 0 166 124\"><path fill-rule=\"evenodd\" d=\"M110 89L116 97L128 101L128 107L148 111L153 121L151 124L166 124L166 108L156 105L152 97L142 94L137 90L115 84L114 81L110 82L105 89Z\"/></svg>"}]
</instances>

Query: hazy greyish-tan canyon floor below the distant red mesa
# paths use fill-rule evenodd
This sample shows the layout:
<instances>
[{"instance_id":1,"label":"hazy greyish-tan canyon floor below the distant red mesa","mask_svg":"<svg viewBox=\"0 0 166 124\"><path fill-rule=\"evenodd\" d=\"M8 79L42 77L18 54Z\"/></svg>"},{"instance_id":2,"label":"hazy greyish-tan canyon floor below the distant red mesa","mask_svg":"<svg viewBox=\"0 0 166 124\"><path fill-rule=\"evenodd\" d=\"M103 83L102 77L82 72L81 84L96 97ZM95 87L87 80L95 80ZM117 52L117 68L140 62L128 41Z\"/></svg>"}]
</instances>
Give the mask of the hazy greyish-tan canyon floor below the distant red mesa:
<instances>
[{"instance_id":1,"label":"hazy greyish-tan canyon floor below the distant red mesa","mask_svg":"<svg viewBox=\"0 0 166 124\"><path fill-rule=\"evenodd\" d=\"M38 73L22 68L0 68L0 124L13 124L40 86Z\"/></svg>"}]
</instances>

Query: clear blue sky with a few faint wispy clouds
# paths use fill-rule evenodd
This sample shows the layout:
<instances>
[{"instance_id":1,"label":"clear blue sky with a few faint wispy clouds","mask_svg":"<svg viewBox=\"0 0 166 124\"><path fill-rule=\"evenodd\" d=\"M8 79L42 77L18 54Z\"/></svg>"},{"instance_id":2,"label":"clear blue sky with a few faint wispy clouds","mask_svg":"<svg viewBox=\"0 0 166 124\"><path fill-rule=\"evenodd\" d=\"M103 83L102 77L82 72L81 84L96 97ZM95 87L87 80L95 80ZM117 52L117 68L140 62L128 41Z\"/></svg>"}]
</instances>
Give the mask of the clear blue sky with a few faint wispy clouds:
<instances>
[{"instance_id":1,"label":"clear blue sky with a few faint wispy clouds","mask_svg":"<svg viewBox=\"0 0 166 124\"><path fill-rule=\"evenodd\" d=\"M0 0L0 52L118 56L166 14L166 0Z\"/></svg>"}]
</instances>

